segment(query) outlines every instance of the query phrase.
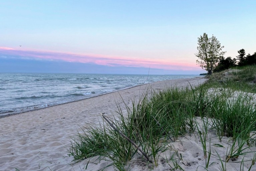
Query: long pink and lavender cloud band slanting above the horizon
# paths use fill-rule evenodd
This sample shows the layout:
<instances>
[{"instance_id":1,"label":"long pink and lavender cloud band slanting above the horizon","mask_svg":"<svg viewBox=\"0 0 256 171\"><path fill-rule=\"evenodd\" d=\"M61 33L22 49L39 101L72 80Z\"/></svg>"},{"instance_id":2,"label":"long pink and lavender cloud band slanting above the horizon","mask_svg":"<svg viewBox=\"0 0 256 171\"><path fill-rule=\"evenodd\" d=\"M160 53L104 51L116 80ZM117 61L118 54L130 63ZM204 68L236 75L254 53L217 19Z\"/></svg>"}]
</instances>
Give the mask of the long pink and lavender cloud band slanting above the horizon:
<instances>
[{"instance_id":1,"label":"long pink and lavender cloud band slanting above the horizon","mask_svg":"<svg viewBox=\"0 0 256 171\"><path fill-rule=\"evenodd\" d=\"M108 66L132 66L158 68L167 70L200 70L195 63L172 62L164 59L116 57L104 55L72 54L61 52L15 50L8 47L0 47L0 56L26 58L33 60L62 60L67 62L94 63Z\"/></svg>"}]
</instances>

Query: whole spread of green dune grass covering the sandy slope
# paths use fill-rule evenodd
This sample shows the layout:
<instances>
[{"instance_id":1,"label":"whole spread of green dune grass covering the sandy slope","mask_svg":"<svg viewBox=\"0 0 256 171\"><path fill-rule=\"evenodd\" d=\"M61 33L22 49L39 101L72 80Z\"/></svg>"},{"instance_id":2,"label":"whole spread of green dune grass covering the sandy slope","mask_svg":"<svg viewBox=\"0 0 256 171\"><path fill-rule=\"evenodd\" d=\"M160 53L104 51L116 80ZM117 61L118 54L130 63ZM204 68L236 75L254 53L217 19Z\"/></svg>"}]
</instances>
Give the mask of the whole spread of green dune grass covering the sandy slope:
<instances>
[{"instance_id":1,"label":"whole spread of green dune grass covering the sandy slope","mask_svg":"<svg viewBox=\"0 0 256 171\"><path fill-rule=\"evenodd\" d=\"M247 78L243 69L248 68L236 71L233 80L229 78L226 82L213 82L215 78L210 78L208 83L196 88L170 87L160 92L151 90L138 101L133 100L132 106L117 105L116 113L108 117L112 124L107 124L102 119L100 126L85 126L82 128L83 132L70 138L68 152L76 161L99 156L100 160L111 161L110 165L118 170L127 169L133 158L154 168L158 166L159 158L163 158L161 153L172 148L172 142L179 140L179 137L186 133L195 133L200 137L206 159L204 168L207 169L216 163L210 162L212 137L207 137L208 129L213 129L220 142L224 136L232 137L225 163L230 159L245 156L248 149L256 145L255 96L250 93L255 90L254 85L248 84L249 86L239 88L240 82L234 82L240 80L240 77L243 77L242 82L252 81L256 67L250 68L254 73L248 74ZM202 125L196 121L198 118L201 118ZM210 145L207 147L208 141ZM137 144L138 148L131 142ZM250 153L255 154L256 151ZM215 157L221 160L218 153ZM255 158L252 158L253 165ZM174 155L165 159L171 168L183 170L177 160L182 159ZM223 163L221 161L220 170L226 170Z\"/></svg>"}]
</instances>

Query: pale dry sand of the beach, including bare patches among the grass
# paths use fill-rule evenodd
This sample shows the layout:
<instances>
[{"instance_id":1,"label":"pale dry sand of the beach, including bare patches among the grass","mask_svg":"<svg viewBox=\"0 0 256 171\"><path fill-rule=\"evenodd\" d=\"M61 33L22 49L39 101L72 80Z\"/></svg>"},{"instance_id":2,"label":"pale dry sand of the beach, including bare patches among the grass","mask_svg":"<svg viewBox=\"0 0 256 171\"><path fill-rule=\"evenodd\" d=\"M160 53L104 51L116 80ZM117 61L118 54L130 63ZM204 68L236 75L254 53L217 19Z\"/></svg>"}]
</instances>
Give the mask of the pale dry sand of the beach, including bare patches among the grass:
<instances>
[{"instance_id":1,"label":"pale dry sand of the beach, including bare patches among the grass","mask_svg":"<svg viewBox=\"0 0 256 171\"><path fill-rule=\"evenodd\" d=\"M70 165L73 157L68 156L65 148L69 140L68 137L76 134L79 126L86 123L98 125L101 121L100 112L111 115L116 110L116 103L123 104L120 97L124 103L129 104L134 97L139 97L148 88L159 90L166 86L188 86L189 83L195 86L204 81L206 79L202 77L158 81L77 102L1 118L0 170L84 170L87 164L86 160ZM182 143L174 142L173 149L179 150L183 156L183 159L179 161L182 168L184 170L196 170L199 166L198 170L204 170L200 166L205 166L205 159L199 137L188 135L181 141ZM211 143L219 142L216 138ZM225 145L225 143L223 144ZM217 149L217 152L223 156L225 150L220 148ZM215 151L212 150L212 152L216 154ZM218 162L217 159L216 162ZM167 163L159 163L158 167L148 168L144 164L132 161L130 169L170 169ZM99 170L108 164L109 162L105 161L100 162L100 164L90 163L86 170ZM248 161L246 164L249 166L250 162ZM214 163L208 170L219 170L218 167L220 167L219 164ZM236 168L240 170L240 163L228 162L227 168L227 170L236 170ZM113 170L113 167L106 170Z\"/></svg>"}]
</instances>

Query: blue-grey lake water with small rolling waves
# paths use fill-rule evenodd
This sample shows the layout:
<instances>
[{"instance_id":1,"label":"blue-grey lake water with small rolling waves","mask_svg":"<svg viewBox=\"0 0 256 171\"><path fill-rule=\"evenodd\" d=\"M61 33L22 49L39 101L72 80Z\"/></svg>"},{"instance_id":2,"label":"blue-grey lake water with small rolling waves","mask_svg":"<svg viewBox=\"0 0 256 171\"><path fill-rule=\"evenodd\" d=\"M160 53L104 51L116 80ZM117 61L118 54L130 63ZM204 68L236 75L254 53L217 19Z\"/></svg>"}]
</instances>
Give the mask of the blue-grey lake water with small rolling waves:
<instances>
[{"instance_id":1,"label":"blue-grey lake water with small rolling waves","mask_svg":"<svg viewBox=\"0 0 256 171\"><path fill-rule=\"evenodd\" d=\"M0 116L199 75L0 73Z\"/></svg>"}]
</instances>

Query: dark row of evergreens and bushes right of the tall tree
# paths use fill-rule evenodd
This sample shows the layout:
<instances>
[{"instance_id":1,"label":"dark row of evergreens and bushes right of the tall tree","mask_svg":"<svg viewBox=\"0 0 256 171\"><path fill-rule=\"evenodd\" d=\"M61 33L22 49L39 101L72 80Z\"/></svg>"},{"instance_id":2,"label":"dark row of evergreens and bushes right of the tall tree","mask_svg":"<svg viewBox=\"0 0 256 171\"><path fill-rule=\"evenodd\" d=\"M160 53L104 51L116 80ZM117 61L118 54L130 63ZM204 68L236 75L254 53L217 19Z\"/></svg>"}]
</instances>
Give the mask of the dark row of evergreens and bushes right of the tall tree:
<instances>
[{"instance_id":1,"label":"dark row of evergreens and bushes right of the tall tree","mask_svg":"<svg viewBox=\"0 0 256 171\"><path fill-rule=\"evenodd\" d=\"M254 52L252 55L250 53L246 55L244 49L240 49L237 52L238 56L233 59L230 56L227 58L221 56L218 65L214 69L214 72L220 72L233 66L246 66L256 64L256 52Z\"/></svg>"}]
</instances>

